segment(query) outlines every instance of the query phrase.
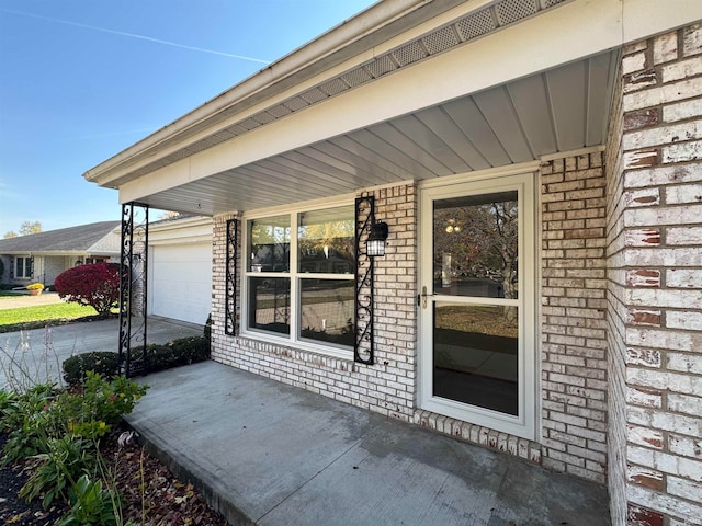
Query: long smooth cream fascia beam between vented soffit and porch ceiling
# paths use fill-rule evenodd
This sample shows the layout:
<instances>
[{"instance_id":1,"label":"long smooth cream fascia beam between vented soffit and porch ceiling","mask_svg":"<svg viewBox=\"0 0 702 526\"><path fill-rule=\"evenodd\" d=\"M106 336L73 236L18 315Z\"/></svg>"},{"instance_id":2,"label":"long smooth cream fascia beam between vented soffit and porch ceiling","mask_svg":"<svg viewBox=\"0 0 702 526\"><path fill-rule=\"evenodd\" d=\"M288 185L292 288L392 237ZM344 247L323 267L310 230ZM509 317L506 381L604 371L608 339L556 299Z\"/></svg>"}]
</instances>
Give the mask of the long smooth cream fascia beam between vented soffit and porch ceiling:
<instances>
[{"instance_id":1,"label":"long smooth cream fascia beam between vented soffit and porch ceiling","mask_svg":"<svg viewBox=\"0 0 702 526\"><path fill-rule=\"evenodd\" d=\"M120 186L120 202L138 201L616 47L620 15L618 0L574 1L546 11L126 182ZM597 24L580 23L595 18Z\"/></svg>"}]
</instances>

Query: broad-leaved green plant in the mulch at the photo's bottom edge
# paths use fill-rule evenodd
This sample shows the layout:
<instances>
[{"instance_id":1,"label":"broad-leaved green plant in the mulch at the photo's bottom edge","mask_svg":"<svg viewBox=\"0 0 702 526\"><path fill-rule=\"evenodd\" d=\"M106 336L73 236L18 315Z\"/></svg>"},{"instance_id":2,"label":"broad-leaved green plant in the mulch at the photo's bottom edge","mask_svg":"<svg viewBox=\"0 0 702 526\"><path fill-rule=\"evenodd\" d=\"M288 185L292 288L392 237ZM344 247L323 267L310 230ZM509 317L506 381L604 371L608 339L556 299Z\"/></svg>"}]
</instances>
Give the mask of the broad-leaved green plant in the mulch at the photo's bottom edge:
<instances>
[{"instance_id":1,"label":"broad-leaved green plant in the mulch at the photo's bottom edge","mask_svg":"<svg viewBox=\"0 0 702 526\"><path fill-rule=\"evenodd\" d=\"M120 495L102 488L102 481L82 474L68 490L70 511L57 526L117 526Z\"/></svg>"}]
</instances>

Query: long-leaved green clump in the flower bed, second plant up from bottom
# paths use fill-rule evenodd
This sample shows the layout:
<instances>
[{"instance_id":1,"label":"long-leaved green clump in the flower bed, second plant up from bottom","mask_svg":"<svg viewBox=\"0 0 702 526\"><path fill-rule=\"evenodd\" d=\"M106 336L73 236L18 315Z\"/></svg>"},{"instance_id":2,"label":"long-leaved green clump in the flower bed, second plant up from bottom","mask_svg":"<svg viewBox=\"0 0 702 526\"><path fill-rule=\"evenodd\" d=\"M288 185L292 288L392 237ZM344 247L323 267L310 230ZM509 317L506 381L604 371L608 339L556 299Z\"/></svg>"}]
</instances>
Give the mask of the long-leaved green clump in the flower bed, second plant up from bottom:
<instances>
[{"instance_id":1,"label":"long-leaved green clump in the flower bed, second plant up from bottom","mask_svg":"<svg viewBox=\"0 0 702 526\"><path fill-rule=\"evenodd\" d=\"M92 444L82 438L66 435L49 439L47 445L47 453L35 455L41 465L20 490L20 496L27 501L43 494L44 510L48 510L57 498L66 500L67 485L82 473L90 472L97 461Z\"/></svg>"}]
</instances>

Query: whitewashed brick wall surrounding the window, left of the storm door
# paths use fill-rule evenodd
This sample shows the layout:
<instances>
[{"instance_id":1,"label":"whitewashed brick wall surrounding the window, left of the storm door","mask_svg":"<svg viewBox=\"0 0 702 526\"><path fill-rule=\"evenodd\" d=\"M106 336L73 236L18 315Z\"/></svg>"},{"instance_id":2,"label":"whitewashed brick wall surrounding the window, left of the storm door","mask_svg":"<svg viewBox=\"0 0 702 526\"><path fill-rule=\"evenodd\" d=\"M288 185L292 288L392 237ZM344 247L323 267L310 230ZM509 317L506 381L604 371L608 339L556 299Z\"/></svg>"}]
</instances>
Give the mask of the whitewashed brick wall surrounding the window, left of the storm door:
<instances>
[{"instance_id":1,"label":"whitewashed brick wall surrounding the window, left of the storm door","mask_svg":"<svg viewBox=\"0 0 702 526\"><path fill-rule=\"evenodd\" d=\"M225 228L231 216L217 216L214 220L213 359L388 416L412 419L417 377L417 193L414 185L401 185L373 194L376 218L389 227L386 256L375 261L376 364L365 366L352 359L224 334Z\"/></svg>"}]
</instances>

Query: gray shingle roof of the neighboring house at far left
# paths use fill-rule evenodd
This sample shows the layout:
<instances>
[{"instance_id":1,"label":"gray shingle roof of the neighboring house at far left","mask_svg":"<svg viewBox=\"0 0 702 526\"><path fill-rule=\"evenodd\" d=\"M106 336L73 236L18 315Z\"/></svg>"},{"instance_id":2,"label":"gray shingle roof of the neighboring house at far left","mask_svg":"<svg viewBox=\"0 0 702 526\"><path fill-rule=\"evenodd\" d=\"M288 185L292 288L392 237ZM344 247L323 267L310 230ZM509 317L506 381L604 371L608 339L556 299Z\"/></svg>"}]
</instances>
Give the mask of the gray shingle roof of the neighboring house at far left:
<instances>
[{"instance_id":1,"label":"gray shingle roof of the neighboring house at far left","mask_svg":"<svg viewBox=\"0 0 702 526\"><path fill-rule=\"evenodd\" d=\"M0 240L0 254L42 252L120 252L120 221L101 221L79 227L18 236Z\"/></svg>"}]
</instances>

